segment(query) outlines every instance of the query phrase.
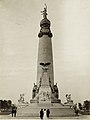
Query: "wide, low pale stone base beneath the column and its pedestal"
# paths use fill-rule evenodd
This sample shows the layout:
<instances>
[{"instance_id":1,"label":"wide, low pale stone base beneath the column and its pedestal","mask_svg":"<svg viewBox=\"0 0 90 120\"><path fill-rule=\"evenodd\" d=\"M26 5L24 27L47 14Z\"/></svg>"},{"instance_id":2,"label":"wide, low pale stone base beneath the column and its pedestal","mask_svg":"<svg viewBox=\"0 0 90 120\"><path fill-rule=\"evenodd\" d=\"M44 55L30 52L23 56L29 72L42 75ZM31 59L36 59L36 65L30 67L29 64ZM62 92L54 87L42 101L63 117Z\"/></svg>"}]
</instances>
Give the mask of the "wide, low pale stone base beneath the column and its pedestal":
<instances>
[{"instance_id":1,"label":"wide, low pale stone base beneath the column and its pedestal","mask_svg":"<svg viewBox=\"0 0 90 120\"><path fill-rule=\"evenodd\" d=\"M39 117L41 109L49 109L50 117L69 117L74 116L74 109L62 103L31 103L28 106L18 108L18 117Z\"/></svg>"}]
</instances>

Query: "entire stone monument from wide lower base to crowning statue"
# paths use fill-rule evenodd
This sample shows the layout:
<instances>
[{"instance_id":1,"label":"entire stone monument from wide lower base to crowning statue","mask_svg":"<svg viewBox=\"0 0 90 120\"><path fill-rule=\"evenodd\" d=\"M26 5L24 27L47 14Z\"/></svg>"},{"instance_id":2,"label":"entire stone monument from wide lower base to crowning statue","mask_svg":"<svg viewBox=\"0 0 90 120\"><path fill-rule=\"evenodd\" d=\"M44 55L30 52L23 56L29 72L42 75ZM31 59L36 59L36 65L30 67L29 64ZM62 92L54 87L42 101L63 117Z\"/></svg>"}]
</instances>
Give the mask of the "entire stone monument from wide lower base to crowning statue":
<instances>
[{"instance_id":1,"label":"entire stone monument from wide lower base to crowning statue","mask_svg":"<svg viewBox=\"0 0 90 120\"><path fill-rule=\"evenodd\" d=\"M47 6L41 11L37 83L34 83L30 104L19 107L18 116L39 116L40 109L49 109L50 116L72 116L74 110L69 104L62 104L59 99L57 83L54 84L51 22L47 19Z\"/></svg>"}]
</instances>

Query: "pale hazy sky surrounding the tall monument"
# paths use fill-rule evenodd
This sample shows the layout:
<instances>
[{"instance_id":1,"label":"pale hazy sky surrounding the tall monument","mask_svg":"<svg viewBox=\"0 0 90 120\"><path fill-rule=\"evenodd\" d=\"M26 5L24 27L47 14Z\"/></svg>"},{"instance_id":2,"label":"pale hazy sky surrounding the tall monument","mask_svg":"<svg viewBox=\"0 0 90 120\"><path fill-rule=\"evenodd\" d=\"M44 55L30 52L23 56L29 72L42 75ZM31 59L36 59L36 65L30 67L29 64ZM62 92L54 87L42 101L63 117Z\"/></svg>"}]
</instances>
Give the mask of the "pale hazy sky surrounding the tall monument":
<instances>
[{"instance_id":1,"label":"pale hazy sky surrounding the tall monument","mask_svg":"<svg viewBox=\"0 0 90 120\"><path fill-rule=\"evenodd\" d=\"M32 97L37 81L40 11L47 4L59 97L90 100L90 0L0 0L0 99Z\"/></svg>"}]
</instances>

